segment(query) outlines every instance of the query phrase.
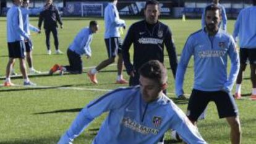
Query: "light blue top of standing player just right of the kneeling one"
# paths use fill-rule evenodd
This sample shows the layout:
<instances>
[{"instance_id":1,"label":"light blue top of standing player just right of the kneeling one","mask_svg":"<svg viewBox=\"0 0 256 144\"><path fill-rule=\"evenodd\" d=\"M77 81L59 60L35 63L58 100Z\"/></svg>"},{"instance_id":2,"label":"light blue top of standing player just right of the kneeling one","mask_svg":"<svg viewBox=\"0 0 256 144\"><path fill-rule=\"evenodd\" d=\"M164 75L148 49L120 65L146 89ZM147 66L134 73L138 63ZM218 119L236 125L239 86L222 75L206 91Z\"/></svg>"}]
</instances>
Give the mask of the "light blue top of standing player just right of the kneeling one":
<instances>
[{"instance_id":1,"label":"light blue top of standing player just right of the kneeling one","mask_svg":"<svg viewBox=\"0 0 256 144\"><path fill-rule=\"evenodd\" d=\"M113 2L110 2L105 8L105 38L120 37L119 27L124 27L126 23L119 19L119 14Z\"/></svg>"}]
</instances>

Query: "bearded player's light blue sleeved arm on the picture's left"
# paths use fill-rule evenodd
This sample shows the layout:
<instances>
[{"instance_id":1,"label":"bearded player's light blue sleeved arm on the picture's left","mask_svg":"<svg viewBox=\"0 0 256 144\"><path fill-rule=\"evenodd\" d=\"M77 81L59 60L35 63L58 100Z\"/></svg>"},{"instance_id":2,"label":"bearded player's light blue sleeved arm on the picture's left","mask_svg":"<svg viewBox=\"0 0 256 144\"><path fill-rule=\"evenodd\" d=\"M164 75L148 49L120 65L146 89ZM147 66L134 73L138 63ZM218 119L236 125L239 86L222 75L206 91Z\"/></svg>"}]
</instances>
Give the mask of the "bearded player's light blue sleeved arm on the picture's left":
<instances>
[{"instance_id":1,"label":"bearded player's light blue sleeved arm on the picture's left","mask_svg":"<svg viewBox=\"0 0 256 144\"><path fill-rule=\"evenodd\" d=\"M184 95L183 91L183 82L184 82L184 75L186 73L187 64L189 64L189 59L194 53L193 47L193 38L189 36L186 44L182 50L181 59L177 66L176 78L175 78L175 91L176 96Z\"/></svg>"}]
</instances>

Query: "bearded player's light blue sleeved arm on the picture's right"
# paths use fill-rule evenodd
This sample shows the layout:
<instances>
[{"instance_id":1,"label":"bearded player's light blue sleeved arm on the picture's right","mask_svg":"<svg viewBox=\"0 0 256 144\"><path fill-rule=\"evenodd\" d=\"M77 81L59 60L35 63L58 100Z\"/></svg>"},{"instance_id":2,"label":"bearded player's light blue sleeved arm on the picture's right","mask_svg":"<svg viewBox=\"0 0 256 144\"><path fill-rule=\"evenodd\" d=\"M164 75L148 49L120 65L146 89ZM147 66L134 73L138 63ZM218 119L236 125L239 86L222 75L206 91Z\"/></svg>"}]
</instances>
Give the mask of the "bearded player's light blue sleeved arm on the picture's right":
<instances>
[{"instance_id":1,"label":"bearded player's light blue sleeved arm on the picture's right","mask_svg":"<svg viewBox=\"0 0 256 144\"><path fill-rule=\"evenodd\" d=\"M226 92L230 92L232 90L240 67L239 54L237 52L234 39L232 37L230 38L229 41L228 55L231 59L231 70L229 72L228 82L226 82L223 87L223 90Z\"/></svg>"}]
</instances>

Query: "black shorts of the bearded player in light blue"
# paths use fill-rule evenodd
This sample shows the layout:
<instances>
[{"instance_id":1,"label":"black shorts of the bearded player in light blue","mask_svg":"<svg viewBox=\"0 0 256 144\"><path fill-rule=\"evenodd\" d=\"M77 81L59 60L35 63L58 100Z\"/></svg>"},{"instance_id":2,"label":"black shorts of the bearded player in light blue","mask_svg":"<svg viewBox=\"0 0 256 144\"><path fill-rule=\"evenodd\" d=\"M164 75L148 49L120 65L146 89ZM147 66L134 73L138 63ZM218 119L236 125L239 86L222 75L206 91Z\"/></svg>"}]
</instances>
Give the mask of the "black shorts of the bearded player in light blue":
<instances>
[{"instance_id":1,"label":"black shorts of the bearded player in light blue","mask_svg":"<svg viewBox=\"0 0 256 144\"><path fill-rule=\"evenodd\" d=\"M192 90L187 106L187 116L192 121L198 117L207 107L210 101L214 101L220 118L233 117L238 115L236 102L231 93L225 91L200 91Z\"/></svg>"}]
</instances>

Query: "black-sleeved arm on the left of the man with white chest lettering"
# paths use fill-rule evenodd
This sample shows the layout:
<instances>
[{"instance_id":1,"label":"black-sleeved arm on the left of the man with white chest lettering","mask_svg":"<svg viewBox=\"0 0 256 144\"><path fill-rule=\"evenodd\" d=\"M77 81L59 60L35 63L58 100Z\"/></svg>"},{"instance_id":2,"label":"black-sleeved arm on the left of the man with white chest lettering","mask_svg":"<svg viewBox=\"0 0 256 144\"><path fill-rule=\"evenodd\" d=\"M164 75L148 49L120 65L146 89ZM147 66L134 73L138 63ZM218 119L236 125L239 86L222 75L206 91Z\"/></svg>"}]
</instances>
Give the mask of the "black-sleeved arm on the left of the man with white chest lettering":
<instances>
[{"instance_id":1,"label":"black-sleeved arm on the left of the man with white chest lettering","mask_svg":"<svg viewBox=\"0 0 256 144\"><path fill-rule=\"evenodd\" d=\"M124 66L126 67L127 74L130 75L130 72L134 71L134 66L130 62L130 46L134 43L134 25L131 25L124 41L122 43L122 58L124 61Z\"/></svg>"}]
</instances>

